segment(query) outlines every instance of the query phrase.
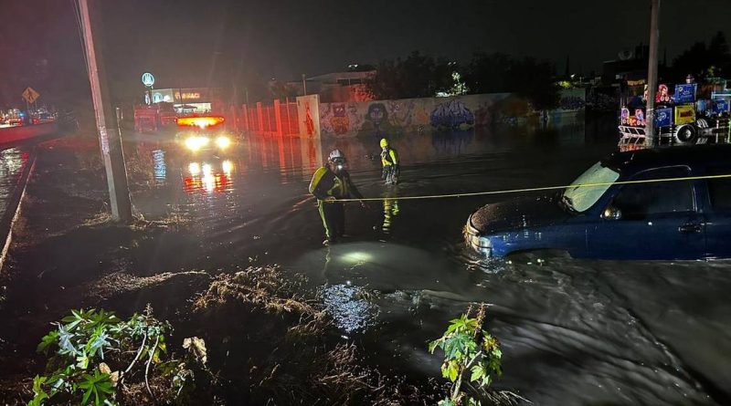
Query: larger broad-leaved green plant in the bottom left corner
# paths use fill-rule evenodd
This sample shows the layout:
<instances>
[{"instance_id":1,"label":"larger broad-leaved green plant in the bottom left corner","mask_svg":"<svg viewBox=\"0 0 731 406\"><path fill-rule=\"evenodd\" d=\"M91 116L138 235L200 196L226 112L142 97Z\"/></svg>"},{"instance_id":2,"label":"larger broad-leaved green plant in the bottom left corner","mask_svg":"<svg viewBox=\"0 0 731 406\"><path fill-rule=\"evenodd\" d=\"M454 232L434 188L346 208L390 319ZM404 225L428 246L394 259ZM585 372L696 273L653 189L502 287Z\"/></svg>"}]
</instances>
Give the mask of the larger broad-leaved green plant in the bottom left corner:
<instances>
[{"instance_id":1,"label":"larger broad-leaved green plant in the bottom left corner","mask_svg":"<svg viewBox=\"0 0 731 406\"><path fill-rule=\"evenodd\" d=\"M37 348L50 358L46 375L33 380L35 396L29 406L115 405L118 390L127 388L125 383L142 382L150 399L156 401L150 385L153 375L167 378L172 386L168 392L175 397L192 383L193 373L183 361L164 360L169 358L165 334L172 328L154 318L149 306L129 320L104 310L72 310L55 326ZM199 346L205 349L205 344Z\"/></svg>"}]
</instances>

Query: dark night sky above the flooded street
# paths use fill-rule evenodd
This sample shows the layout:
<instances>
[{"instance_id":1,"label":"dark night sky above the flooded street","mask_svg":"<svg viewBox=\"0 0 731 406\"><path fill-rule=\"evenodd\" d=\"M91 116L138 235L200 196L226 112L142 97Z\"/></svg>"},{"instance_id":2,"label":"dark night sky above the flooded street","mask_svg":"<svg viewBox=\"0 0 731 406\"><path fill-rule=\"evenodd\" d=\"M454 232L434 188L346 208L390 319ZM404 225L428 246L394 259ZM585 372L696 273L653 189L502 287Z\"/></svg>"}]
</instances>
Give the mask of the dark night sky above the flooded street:
<instances>
[{"instance_id":1,"label":"dark night sky above the flooded street","mask_svg":"<svg viewBox=\"0 0 731 406\"><path fill-rule=\"evenodd\" d=\"M123 98L139 93L144 70L161 88L221 85L232 73L247 86L414 49L460 61L478 50L502 51L556 61L559 72L570 55L572 70L586 74L620 49L647 43L649 33L649 2L642 0L100 3L111 86ZM670 59L718 30L731 34L731 0L662 0L661 12L661 49ZM63 99L79 92L83 72L71 0L0 0L0 99L15 99L18 88L37 81Z\"/></svg>"}]
</instances>

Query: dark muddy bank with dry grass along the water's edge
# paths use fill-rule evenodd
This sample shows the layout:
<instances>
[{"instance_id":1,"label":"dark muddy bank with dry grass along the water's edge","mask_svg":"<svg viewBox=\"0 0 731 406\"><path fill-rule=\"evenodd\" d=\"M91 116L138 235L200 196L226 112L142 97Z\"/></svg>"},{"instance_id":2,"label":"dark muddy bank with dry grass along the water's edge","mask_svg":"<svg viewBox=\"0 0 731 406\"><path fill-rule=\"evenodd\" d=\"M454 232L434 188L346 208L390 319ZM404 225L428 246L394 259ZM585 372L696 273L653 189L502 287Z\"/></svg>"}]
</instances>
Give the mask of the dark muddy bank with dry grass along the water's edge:
<instances>
[{"instance_id":1,"label":"dark muddy bank with dry grass along the water's edge","mask_svg":"<svg viewBox=\"0 0 731 406\"><path fill-rule=\"evenodd\" d=\"M6 404L32 397L31 378L45 365L35 349L49 323L71 308L103 307L128 317L148 303L175 328L170 349L186 337L206 340L216 377L201 392L207 403L436 403L436 381L414 384L365 365L321 302L276 266L232 265L217 275L154 269L152 258L166 252L163 237L185 225L106 222L96 148L89 139L40 148L0 275L0 399Z\"/></svg>"}]
</instances>

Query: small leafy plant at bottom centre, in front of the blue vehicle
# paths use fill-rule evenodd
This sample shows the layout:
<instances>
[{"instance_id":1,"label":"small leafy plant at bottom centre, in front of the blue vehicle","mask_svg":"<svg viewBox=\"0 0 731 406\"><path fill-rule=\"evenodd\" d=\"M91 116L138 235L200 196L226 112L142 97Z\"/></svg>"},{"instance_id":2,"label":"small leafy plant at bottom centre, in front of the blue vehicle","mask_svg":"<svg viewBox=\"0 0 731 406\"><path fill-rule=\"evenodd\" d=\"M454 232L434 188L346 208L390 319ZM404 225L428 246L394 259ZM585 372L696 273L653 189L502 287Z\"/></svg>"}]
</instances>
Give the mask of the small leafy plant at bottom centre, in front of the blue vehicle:
<instances>
[{"instance_id":1,"label":"small leafy plant at bottom centre, in front of the blue vehicle","mask_svg":"<svg viewBox=\"0 0 731 406\"><path fill-rule=\"evenodd\" d=\"M493 382L493 377L503 375L500 359L503 353L500 343L482 329L485 306L482 305L476 318L470 318L471 308L460 318L450 320L450 327L441 338L429 343L429 352L436 349L444 351L441 375L452 382L450 395L440 401L442 406L480 405L462 390L467 380L477 389L485 390ZM469 374L469 380L466 376Z\"/></svg>"}]
</instances>

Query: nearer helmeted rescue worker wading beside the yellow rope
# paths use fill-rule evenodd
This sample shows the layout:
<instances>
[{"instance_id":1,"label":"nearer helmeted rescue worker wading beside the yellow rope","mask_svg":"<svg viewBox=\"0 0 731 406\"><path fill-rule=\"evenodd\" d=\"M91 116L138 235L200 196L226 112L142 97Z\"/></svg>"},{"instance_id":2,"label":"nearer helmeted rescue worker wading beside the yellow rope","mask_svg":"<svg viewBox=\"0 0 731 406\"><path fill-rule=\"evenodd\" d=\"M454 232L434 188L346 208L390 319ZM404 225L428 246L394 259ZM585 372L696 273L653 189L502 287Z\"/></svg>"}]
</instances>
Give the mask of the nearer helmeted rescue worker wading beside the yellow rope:
<instances>
[{"instance_id":1,"label":"nearer helmeted rescue worker wading beside the yellow rope","mask_svg":"<svg viewBox=\"0 0 731 406\"><path fill-rule=\"evenodd\" d=\"M339 199L363 199L363 195L355 188L350 180L350 174L345 171L345 155L343 151L330 152L327 166L314 172L310 182L310 193L317 198L317 208L323 219L327 239L323 245L337 242L345 232L345 211L343 203L335 203ZM365 203L361 202L365 207Z\"/></svg>"}]
</instances>

